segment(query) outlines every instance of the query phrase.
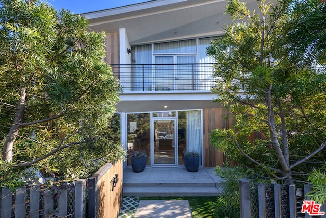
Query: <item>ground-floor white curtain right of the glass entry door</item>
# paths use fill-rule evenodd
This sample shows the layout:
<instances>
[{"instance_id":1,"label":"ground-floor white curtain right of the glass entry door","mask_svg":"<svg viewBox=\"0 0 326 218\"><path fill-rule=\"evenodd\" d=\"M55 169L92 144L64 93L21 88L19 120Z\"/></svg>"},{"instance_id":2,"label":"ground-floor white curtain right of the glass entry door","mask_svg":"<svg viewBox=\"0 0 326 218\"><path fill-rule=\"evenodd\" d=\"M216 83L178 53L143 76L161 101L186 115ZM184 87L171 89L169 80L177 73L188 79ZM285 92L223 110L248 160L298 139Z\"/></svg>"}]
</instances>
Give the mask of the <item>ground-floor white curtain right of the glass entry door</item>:
<instances>
[{"instance_id":1,"label":"ground-floor white curtain right of the glass entry door","mask_svg":"<svg viewBox=\"0 0 326 218\"><path fill-rule=\"evenodd\" d=\"M187 111L187 151L200 152L202 143L200 111Z\"/></svg>"}]
</instances>

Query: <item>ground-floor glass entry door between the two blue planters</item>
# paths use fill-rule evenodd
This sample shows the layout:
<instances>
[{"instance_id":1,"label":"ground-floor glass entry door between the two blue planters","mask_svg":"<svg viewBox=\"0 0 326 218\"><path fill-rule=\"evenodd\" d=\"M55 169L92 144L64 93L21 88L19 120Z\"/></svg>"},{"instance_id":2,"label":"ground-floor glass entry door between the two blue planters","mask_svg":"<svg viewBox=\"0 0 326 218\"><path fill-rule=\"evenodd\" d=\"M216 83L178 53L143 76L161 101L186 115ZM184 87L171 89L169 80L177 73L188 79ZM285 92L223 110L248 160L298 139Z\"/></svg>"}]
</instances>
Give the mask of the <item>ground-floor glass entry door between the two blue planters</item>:
<instances>
[{"instance_id":1,"label":"ground-floor glass entry door between the two blue planters","mask_svg":"<svg viewBox=\"0 0 326 218\"><path fill-rule=\"evenodd\" d=\"M175 120L153 119L152 124L152 165L177 165Z\"/></svg>"}]
</instances>

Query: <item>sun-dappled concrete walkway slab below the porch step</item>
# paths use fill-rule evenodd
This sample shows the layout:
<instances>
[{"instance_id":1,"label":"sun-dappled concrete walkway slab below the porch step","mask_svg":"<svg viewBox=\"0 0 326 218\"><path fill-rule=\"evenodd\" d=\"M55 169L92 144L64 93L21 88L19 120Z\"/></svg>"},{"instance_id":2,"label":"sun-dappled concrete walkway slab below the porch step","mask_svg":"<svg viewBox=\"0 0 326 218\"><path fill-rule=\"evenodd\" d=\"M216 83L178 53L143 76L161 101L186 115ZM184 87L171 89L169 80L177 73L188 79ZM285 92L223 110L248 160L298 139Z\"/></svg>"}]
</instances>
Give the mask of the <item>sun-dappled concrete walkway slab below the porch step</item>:
<instances>
[{"instance_id":1,"label":"sun-dappled concrete walkway slab below the porch step","mask_svg":"<svg viewBox=\"0 0 326 218\"><path fill-rule=\"evenodd\" d=\"M188 200L141 200L135 218L191 218Z\"/></svg>"}]
</instances>

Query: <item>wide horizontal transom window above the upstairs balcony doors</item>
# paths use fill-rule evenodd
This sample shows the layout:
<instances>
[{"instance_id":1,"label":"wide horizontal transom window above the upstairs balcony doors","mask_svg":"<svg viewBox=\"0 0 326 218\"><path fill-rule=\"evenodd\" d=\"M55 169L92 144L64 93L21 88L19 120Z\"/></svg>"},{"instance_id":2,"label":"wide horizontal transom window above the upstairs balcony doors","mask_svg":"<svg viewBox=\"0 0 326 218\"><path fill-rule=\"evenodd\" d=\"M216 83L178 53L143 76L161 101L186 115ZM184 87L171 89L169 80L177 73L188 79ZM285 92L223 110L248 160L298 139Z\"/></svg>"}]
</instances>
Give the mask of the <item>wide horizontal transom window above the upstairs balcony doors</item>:
<instances>
[{"instance_id":1,"label":"wide horizontal transom window above the upstairs balcony doors","mask_svg":"<svg viewBox=\"0 0 326 218\"><path fill-rule=\"evenodd\" d=\"M196 39L154 44L154 53L195 53Z\"/></svg>"}]
</instances>

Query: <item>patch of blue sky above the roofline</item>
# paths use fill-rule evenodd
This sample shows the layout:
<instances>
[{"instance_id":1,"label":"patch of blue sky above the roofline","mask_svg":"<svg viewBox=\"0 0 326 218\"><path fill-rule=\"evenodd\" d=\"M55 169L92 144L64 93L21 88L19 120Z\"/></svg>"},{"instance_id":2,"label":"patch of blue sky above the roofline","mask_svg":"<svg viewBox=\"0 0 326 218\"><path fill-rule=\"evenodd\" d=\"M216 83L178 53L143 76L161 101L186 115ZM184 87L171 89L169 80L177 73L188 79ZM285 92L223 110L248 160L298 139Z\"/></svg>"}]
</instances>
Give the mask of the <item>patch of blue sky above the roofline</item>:
<instances>
[{"instance_id":1,"label":"patch of blue sky above the roofline","mask_svg":"<svg viewBox=\"0 0 326 218\"><path fill-rule=\"evenodd\" d=\"M64 8L70 10L75 14L81 14L147 1L149 0L47 0L46 2L53 5L53 7L57 10Z\"/></svg>"}]
</instances>

